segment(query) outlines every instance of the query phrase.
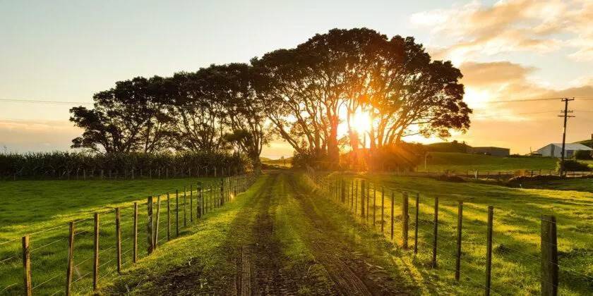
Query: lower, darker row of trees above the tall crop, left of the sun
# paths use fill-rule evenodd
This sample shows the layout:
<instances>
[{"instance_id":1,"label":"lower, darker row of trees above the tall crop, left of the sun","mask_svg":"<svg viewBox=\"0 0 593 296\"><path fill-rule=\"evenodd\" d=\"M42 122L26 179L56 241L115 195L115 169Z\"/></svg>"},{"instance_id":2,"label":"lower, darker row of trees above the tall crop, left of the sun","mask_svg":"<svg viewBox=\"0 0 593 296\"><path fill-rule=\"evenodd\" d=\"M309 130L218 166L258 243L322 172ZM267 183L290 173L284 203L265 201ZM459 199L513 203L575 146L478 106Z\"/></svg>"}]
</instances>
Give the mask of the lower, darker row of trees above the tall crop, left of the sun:
<instances>
[{"instance_id":1,"label":"lower, darker row of trees above the tall crop, left of the sun","mask_svg":"<svg viewBox=\"0 0 593 296\"><path fill-rule=\"evenodd\" d=\"M72 147L106 154L243 152L258 165L271 133L252 73L234 63L116 82L95 94L94 109L71 109L71 121L85 130Z\"/></svg>"}]
</instances>

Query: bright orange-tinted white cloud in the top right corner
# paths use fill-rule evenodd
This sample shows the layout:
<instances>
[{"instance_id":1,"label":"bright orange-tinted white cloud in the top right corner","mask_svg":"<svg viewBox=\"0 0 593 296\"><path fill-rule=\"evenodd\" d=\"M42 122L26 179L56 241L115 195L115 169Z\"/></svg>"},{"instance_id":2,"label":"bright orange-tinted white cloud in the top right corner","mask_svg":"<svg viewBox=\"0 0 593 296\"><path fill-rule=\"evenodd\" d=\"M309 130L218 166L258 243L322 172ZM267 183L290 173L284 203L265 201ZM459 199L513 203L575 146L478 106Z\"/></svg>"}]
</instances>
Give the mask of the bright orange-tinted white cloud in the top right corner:
<instances>
[{"instance_id":1,"label":"bright orange-tinted white cloud in the top right corner","mask_svg":"<svg viewBox=\"0 0 593 296\"><path fill-rule=\"evenodd\" d=\"M447 44L439 58L454 63L511 51L546 54L563 47L569 56L593 60L591 1L498 1L491 6L472 1L462 6L414 13L412 24L429 27Z\"/></svg>"}]
</instances>

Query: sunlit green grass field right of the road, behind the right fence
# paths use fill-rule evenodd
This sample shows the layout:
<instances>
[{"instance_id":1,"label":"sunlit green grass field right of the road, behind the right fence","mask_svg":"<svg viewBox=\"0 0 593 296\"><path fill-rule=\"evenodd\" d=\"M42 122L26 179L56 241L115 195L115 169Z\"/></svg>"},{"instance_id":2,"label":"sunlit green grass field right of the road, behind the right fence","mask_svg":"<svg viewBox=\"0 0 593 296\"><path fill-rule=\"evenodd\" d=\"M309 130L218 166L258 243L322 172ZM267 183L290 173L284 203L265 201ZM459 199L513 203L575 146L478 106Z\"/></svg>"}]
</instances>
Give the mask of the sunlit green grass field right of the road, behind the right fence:
<instances>
[{"instance_id":1,"label":"sunlit green grass field right of the road, behind the right fence","mask_svg":"<svg viewBox=\"0 0 593 296\"><path fill-rule=\"evenodd\" d=\"M486 259L486 210L494 206L492 290L501 295L537 295L540 282L540 217L554 214L558 226L558 257L561 295L590 295L593 290L593 186L589 192L566 190L517 189L477 183L445 183L429 178L390 175L330 175L346 178L347 192L352 180L371 182L371 197L376 189L376 223L373 227L373 202L369 218L361 223L381 232L381 192L385 190L385 238L389 240L390 198L395 196L395 242L402 245L402 192L409 192L409 245L414 243L414 202L420 196L419 254L407 251L409 264L419 278L440 294L479 295L484 291ZM586 183L580 183L586 187ZM575 186L573 184L573 186ZM559 189L565 189L558 185ZM360 187L359 187L360 190ZM430 268L433 241L434 198L439 199L438 269ZM360 197L356 216L360 216ZM455 283L455 239L457 202L464 202L462 235L462 273ZM347 204L350 210L351 204ZM351 210L354 212L354 209ZM517 280L517 279L521 280Z\"/></svg>"}]
</instances>

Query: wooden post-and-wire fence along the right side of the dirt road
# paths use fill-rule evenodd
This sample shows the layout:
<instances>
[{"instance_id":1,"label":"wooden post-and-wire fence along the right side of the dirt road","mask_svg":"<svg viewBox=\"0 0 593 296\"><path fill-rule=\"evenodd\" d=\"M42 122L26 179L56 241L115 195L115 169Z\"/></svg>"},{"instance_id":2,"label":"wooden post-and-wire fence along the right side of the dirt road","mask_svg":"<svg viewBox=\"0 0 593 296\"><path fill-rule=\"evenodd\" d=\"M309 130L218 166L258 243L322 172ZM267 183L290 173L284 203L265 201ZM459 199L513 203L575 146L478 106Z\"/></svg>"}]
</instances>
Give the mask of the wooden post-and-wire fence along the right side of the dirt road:
<instances>
[{"instance_id":1,"label":"wooden post-and-wire fence along the right side of the dirt road","mask_svg":"<svg viewBox=\"0 0 593 296\"><path fill-rule=\"evenodd\" d=\"M309 173L309 178L357 221L406 250L404 254L419 269L441 271L438 276L443 278L424 281L433 291L557 295L559 289L574 294L593 290L593 271L587 267L593 254L587 243L593 236L572 223L558 223L556 216L522 216L493 206L439 200L420 192L385 189L388 186L364 178L321 173ZM569 242L576 253L568 251ZM427 275L434 279L430 271Z\"/></svg>"}]
</instances>

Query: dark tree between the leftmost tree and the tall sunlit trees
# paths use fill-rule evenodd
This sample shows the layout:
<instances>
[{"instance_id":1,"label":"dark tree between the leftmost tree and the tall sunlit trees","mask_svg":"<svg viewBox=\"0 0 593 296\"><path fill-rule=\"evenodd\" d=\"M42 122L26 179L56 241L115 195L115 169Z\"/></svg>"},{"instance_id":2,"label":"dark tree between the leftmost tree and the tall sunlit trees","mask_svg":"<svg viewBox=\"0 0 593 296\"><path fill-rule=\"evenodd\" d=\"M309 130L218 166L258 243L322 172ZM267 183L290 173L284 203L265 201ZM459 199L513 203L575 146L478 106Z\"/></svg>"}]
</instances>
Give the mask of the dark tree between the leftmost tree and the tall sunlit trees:
<instances>
[{"instance_id":1,"label":"dark tree between the leftmost tree and the tall sunlit trees","mask_svg":"<svg viewBox=\"0 0 593 296\"><path fill-rule=\"evenodd\" d=\"M215 152L235 149L259 168L270 137L253 68L244 63L212 65L195 73L176 73L167 81L169 112L179 150Z\"/></svg>"}]
</instances>

